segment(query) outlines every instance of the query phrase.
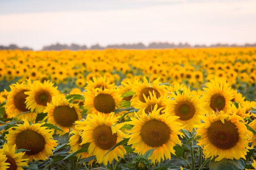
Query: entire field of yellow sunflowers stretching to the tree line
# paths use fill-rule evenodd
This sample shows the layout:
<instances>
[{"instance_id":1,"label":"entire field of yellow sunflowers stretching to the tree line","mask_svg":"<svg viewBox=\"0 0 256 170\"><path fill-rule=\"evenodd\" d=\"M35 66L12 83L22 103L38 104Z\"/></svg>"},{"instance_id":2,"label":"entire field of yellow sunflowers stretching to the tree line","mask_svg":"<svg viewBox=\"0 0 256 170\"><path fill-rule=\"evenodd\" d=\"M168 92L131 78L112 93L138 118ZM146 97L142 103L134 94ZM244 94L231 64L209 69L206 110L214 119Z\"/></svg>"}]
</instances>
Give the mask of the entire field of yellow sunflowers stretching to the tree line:
<instances>
[{"instance_id":1,"label":"entire field of yellow sunflowers stretching to the tree line","mask_svg":"<svg viewBox=\"0 0 256 170\"><path fill-rule=\"evenodd\" d=\"M256 48L0 51L0 170L256 168Z\"/></svg>"}]
</instances>

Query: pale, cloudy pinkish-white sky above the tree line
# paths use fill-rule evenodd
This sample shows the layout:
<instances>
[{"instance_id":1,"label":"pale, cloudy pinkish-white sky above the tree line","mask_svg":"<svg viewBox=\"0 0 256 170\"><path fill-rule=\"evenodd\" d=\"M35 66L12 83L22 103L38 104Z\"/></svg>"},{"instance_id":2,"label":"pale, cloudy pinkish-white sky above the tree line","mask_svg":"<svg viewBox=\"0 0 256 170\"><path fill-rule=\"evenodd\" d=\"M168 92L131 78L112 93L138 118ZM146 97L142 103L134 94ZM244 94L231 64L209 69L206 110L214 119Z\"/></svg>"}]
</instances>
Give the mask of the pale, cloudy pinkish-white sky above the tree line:
<instances>
[{"instance_id":1,"label":"pale, cloudy pinkish-white sky above the tree line","mask_svg":"<svg viewBox=\"0 0 256 170\"><path fill-rule=\"evenodd\" d=\"M256 0L0 0L0 45L256 43Z\"/></svg>"}]
</instances>

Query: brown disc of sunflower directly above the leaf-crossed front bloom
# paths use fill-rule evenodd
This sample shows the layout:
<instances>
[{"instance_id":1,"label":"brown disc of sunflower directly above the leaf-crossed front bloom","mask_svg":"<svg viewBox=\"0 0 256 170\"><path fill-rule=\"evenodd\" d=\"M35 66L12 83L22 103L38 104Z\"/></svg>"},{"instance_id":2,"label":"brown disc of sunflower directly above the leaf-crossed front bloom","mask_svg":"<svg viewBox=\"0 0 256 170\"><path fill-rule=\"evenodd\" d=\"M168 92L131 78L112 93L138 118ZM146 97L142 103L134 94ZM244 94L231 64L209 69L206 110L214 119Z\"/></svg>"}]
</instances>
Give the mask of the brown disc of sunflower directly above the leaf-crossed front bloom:
<instances>
[{"instance_id":1,"label":"brown disc of sunflower directly above the leaf-crossed front bloom","mask_svg":"<svg viewBox=\"0 0 256 170\"><path fill-rule=\"evenodd\" d=\"M110 94L99 94L93 99L94 108L101 113L111 113L115 110L115 99Z\"/></svg>"}]
</instances>

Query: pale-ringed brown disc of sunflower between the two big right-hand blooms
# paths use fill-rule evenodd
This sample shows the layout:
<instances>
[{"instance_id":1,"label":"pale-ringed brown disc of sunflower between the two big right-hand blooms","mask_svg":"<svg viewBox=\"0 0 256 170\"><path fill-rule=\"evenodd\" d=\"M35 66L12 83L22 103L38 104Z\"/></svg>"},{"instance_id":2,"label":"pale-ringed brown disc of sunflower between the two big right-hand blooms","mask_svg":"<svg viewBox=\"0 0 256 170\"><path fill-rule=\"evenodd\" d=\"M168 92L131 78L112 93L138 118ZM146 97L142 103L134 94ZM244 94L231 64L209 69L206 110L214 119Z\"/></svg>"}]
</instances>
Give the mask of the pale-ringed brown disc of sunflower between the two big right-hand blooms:
<instances>
[{"instance_id":1,"label":"pale-ringed brown disc of sunflower between the two big right-hand blooms","mask_svg":"<svg viewBox=\"0 0 256 170\"><path fill-rule=\"evenodd\" d=\"M175 106L175 115L182 121L192 119L194 114L195 106L189 101L178 102Z\"/></svg>"}]
</instances>

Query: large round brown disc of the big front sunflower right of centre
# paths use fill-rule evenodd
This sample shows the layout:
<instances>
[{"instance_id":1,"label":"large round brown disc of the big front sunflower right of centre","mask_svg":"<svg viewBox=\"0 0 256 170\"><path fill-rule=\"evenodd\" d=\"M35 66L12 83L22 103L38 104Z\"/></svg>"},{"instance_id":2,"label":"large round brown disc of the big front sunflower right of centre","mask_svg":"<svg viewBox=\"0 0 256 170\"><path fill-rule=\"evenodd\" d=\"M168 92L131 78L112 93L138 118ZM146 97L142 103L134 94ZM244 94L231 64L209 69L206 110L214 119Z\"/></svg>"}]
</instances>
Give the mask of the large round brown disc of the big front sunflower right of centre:
<instances>
[{"instance_id":1,"label":"large round brown disc of the big front sunflower right of centre","mask_svg":"<svg viewBox=\"0 0 256 170\"><path fill-rule=\"evenodd\" d=\"M171 130L164 122L153 119L142 125L140 135L148 146L158 147L168 142Z\"/></svg>"}]
</instances>

